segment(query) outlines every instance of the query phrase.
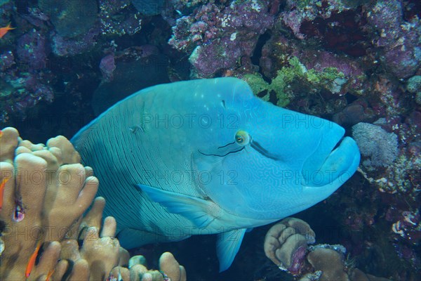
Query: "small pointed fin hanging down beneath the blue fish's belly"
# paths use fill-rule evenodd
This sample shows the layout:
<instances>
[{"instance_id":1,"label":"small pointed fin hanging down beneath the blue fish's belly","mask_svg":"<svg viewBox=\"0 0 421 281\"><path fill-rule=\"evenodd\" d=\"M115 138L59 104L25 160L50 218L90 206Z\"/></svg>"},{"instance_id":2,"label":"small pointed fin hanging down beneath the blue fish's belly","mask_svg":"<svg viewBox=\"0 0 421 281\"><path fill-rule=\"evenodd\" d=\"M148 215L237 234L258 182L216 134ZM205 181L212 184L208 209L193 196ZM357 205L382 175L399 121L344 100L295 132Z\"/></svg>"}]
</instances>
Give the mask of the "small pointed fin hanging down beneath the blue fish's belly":
<instances>
[{"instance_id":1,"label":"small pointed fin hanging down beneath the blue fish's belly","mask_svg":"<svg viewBox=\"0 0 421 281\"><path fill-rule=\"evenodd\" d=\"M227 270L231 266L236 253L240 249L246 228L231 230L226 233L218 234L216 241L216 254L220 262L220 272Z\"/></svg>"}]
</instances>

